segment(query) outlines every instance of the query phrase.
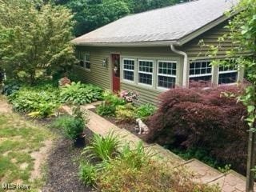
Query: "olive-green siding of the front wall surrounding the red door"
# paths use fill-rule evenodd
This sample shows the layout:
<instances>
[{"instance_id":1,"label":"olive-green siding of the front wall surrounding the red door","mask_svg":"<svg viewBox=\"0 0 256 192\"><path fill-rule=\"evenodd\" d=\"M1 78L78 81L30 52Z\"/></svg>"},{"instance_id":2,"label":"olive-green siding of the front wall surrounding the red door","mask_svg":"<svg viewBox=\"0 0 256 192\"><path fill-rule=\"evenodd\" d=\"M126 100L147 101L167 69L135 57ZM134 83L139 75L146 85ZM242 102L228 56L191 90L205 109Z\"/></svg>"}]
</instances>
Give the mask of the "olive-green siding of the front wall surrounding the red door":
<instances>
[{"instance_id":1,"label":"olive-green siding of the front wall surrounding the red door","mask_svg":"<svg viewBox=\"0 0 256 192\"><path fill-rule=\"evenodd\" d=\"M183 58L178 54L171 52L170 47L77 47L78 52L90 52L90 71L84 69L80 66L75 66L75 73L82 80L82 82L94 83L98 86L102 86L105 89L111 90L111 64L110 64L110 54L120 54L121 56L121 67L120 67L120 80L121 80L121 90L134 90L140 95L140 102L146 103L150 102L154 105L158 103L158 95L165 90L157 88L157 61L175 61L177 62L177 73L176 73L176 85L182 85L182 70L183 70ZM79 56L78 56L79 57ZM108 58L108 64L106 67L102 66L103 59ZM154 81L153 86L143 86L137 83L138 78L138 67L135 66L134 79L135 84L127 82L122 78L122 58L133 58L135 60L135 65L138 59L147 59L154 61Z\"/></svg>"}]
</instances>

